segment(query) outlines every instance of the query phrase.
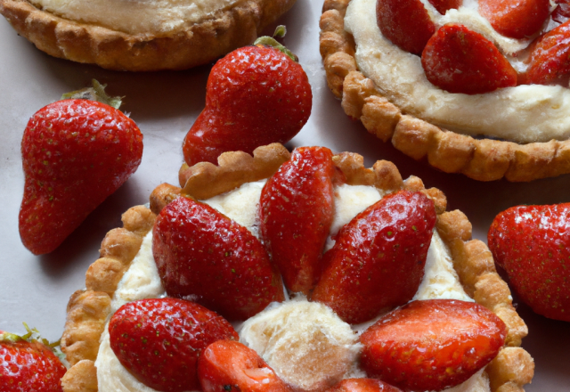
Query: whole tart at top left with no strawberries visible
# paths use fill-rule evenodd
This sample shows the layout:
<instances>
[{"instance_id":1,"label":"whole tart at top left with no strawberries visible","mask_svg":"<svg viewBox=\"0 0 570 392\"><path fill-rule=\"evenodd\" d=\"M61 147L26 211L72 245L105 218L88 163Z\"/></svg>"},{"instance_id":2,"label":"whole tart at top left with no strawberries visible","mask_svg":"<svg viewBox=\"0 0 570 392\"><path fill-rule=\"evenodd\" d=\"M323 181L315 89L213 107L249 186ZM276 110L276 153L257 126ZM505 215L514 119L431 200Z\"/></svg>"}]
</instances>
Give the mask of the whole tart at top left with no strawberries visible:
<instances>
[{"instance_id":1,"label":"whole tart at top left with no strawberries visible","mask_svg":"<svg viewBox=\"0 0 570 392\"><path fill-rule=\"evenodd\" d=\"M20 36L106 69L188 69L251 44L295 0L2 0Z\"/></svg>"}]
</instances>

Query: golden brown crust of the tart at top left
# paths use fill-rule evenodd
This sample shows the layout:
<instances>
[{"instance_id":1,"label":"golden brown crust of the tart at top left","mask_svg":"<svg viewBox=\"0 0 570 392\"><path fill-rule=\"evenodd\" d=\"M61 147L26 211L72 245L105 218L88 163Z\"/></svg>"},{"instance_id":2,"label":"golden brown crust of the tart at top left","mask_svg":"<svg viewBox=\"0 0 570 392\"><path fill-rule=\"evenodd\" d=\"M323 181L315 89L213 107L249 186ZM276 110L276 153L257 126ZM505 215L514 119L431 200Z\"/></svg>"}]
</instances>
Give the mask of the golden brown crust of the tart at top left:
<instances>
[{"instance_id":1,"label":"golden brown crust of the tart at top left","mask_svg":"<svg viewBox=\"0 0 570 392\"><path fill-rule=\"evenodd\" d=\"M55 57L132 71L188 69L251 44L295 0L245 0L165 37L126 34L45 12L27 0L0 0L20 36Z\"/></svg>"}]
</instances>

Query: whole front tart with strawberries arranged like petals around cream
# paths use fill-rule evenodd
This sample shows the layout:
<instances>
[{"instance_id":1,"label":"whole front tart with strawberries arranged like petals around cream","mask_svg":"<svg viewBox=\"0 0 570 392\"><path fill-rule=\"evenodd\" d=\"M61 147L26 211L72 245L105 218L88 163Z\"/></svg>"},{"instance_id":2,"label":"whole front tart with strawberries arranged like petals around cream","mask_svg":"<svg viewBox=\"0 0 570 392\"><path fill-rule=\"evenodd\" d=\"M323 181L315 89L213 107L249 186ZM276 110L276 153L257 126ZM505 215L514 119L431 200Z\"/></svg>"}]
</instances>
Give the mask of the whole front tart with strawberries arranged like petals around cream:
<instances>
[{"instance_id":1,"label":"whole front tart with strawberries arranged like petals around cream","mask_svg":"<svg viewBox=\"0 0 570 392\"><path fill-rule=\"evenodd\" d=\"M522 391L533 360L460 211L395 166L281 144L183 165L69 300L64 391Z\"/></svg>"}]
</instances>

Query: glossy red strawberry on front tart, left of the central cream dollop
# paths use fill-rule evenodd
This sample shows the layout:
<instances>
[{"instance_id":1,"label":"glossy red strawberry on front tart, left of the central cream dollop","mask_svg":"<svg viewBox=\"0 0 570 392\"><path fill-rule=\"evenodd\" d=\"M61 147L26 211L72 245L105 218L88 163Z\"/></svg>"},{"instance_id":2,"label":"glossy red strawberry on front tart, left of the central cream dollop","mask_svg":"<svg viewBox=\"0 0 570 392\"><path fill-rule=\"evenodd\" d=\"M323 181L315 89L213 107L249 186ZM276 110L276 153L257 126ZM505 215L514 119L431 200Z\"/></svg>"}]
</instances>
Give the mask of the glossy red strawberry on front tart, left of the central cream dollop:
<instances>
[{"instance_id":1,"label":"glossy red strawberry on front tart, left of the central cream dollop","mask_svg":"<svg viewBox=\"0 0 570 392\"><path fill-rule=\"evenodd\" d=\"M152 298L129 302L109 323L110 347L147 387L198 390L198 359L210 343L239 339L223 317L190 301Z\"/></svg>"}]
</instances>

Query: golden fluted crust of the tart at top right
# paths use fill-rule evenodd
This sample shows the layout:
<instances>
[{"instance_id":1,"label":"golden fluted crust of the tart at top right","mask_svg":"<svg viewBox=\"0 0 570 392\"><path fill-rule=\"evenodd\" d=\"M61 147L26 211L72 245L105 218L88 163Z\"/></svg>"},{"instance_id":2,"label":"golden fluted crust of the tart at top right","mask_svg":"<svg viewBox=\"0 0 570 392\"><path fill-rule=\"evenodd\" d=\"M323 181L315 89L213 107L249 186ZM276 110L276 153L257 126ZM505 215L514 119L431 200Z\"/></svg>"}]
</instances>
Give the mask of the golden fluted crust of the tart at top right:
<instances>
[{"instance_id":1,"label":"golden fluted crust of the tart at top right","mask_svg":"<svg viewBox=\"0 0 570 392\"><path fill-rule=\"evenodd\" d=\"M321 55L330 90L351 118L413 159L446 173L462 173L479 181L505 177L523 182L570 173L570 141L518 144L475 139L407 116L387 101L374 82L358 71L354 38L344 17L350 0L325 0L321 16Z\"/></svg>"}]
</instances>

